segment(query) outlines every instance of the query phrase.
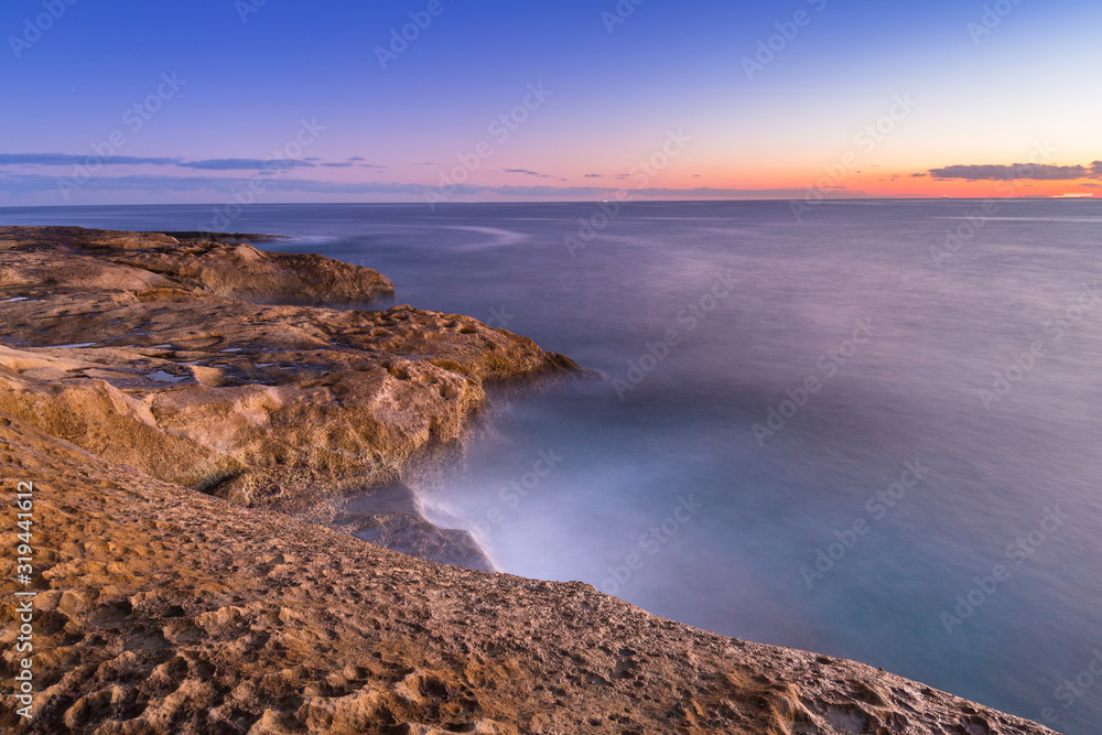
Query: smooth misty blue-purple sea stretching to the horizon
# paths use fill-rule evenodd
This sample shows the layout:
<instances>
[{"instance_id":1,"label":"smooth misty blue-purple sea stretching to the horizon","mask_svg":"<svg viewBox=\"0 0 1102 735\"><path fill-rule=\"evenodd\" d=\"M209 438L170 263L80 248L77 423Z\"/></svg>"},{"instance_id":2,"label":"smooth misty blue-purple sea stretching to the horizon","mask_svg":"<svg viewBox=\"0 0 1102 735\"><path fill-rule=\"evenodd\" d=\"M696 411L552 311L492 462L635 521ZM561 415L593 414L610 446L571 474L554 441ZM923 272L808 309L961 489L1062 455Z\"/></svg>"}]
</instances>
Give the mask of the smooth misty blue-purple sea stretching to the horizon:
<instances>
[{"instance_id":1,"label":"smooth misty blue-purple sea stretching to the horizon","mask_svg":"<svg viewBox=\"0 0 1102 735\"><path fill-rule=\"evenodd\" d=\"M802 223L785 203L607 221L598 204L253 206L233 228L609 377L500 406L433 493L434 519L503 571L1098 733L1102 203L981 204L830 203Z\"/></svg>"}]
</instances>

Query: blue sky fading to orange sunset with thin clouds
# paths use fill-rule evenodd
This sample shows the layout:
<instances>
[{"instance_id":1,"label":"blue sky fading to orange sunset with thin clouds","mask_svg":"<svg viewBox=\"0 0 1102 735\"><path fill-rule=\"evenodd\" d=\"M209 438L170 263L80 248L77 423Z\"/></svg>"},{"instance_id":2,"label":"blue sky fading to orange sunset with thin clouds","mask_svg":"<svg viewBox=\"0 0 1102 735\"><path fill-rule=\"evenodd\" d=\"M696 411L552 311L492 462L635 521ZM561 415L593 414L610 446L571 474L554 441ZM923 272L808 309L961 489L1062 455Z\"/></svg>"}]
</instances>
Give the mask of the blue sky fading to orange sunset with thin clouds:
<instances>
[{"instance_id":1,"label":"blue sky fading to orange sunset with thin clouds","mask_svg":"<svg viewBox=\"0 0 1102 735\"><path fill-rule=\"evenodd\" d=\"M0 205L1102 196L1096 0L7 0Z\"/></svg>"}]
</instances>

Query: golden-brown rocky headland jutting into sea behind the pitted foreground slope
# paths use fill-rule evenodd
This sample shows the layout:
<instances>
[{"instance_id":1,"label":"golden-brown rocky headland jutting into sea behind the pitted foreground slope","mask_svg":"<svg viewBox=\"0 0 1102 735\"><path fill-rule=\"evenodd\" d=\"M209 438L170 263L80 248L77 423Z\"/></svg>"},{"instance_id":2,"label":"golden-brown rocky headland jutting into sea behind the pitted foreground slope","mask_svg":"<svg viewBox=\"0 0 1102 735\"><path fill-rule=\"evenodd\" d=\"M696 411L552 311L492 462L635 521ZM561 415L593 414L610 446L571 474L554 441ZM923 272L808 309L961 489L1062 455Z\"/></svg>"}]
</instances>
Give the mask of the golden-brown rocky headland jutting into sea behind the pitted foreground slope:
<instances>
[{"instance_id":1,"label":"golden-brown rocky headland jutting into sea behind the pitted foreground slope","mask_svg":"<svg viewBox=\"0 0 1102 735\"><path fill-rule=\"evenodd\" d=\"M0 228L0 411L161 479L479 569L465 533L327 506L449 456L487 386L579 372L464 316L270 303L392 295L321 256Z\"/></svg>"}]
</instances>

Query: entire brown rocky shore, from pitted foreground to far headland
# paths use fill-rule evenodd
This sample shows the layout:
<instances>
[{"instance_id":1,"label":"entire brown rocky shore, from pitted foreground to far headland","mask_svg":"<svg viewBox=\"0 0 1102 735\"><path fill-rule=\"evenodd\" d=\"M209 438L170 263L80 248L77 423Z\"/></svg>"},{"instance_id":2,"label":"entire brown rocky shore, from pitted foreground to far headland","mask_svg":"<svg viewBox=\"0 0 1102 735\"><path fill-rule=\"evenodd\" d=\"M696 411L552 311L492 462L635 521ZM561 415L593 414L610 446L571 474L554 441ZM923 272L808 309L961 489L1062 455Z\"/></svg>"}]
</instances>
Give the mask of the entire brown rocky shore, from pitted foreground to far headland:
<instances>
[{"instance_id":1,"label":"entire brown rocky shore, from pitted foreground to far headland","mask_svg":"<svg viewBox=\"0 0 1102 735\"><path fill-rule=\"evenodd\" d=\"M36 593L33 716L6 694L3 732L1051 732L588 585L377 545L435 553L402 480L488 386L576 372L530 341L409 306L272 305L294 295L288 263L303 301L389 288L236 241L7 228L0 258L0 461L9 505L33 485ZM0 607L3 682L14 620Z\"/></svg>"}]
</instances>

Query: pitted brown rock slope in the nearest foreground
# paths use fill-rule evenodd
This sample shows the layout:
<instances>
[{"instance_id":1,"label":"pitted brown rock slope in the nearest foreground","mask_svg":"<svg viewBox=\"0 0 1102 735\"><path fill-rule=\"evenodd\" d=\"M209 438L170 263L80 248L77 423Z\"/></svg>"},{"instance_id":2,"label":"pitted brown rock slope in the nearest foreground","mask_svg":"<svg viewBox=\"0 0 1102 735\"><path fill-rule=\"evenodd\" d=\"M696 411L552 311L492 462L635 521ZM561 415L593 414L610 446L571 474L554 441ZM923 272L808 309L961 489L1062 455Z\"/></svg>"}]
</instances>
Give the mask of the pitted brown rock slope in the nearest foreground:
<instances>
[{"instance_id":1,"label":"pitted brown rock slope in the nearest foreground","mask_svg":"<svg viewBox=\"0 0 1102 735\"><path fill-rule=\"evenodd\" d=\"M579 583L424 562L106 462L0 417L33 483L33 718L0 729L391 735L1051 735L867 666ZM0 547L13 548L12 525ZM0 595L13 560L2 555ZM0 606L0 681L18 669Z\"/></svg>"}]
</instances>

